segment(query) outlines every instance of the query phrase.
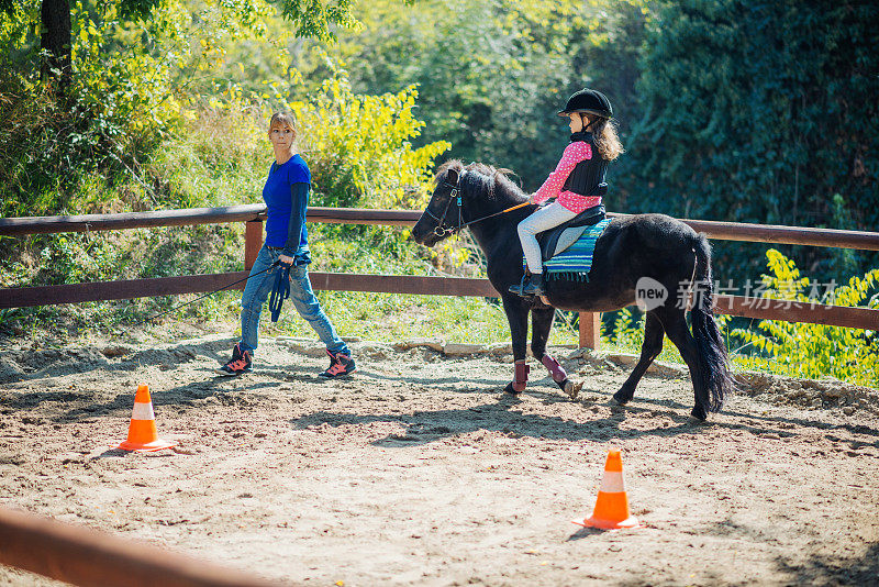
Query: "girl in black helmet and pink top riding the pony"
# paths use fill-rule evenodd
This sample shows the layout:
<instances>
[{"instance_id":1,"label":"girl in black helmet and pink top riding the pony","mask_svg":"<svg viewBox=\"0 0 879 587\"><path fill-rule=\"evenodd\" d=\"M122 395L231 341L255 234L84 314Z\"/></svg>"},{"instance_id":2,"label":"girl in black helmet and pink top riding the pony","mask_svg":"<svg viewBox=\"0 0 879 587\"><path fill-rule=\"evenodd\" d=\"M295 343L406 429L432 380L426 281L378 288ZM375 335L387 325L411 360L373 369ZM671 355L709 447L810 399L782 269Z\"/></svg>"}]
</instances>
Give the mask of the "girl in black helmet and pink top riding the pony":
<instances>
[{"instance_id":1,"label":"girl in black helmet and pink top riding the pony","mask_svg":"<svg viewBox=\"0 0 879 587\"><path fill-rule=\"evenodd\" d=\"M611 118L613 109L608 98L597 90L582 89L568 98L559 117L570 119L570 144L565 148L556 170L549 174L531 197L532 203L558 198L519 223L519 240L531 277L510 291L520 296L543 296L543 259L537 244L538 232L557 226L588 208L599 206L598 189L604 182L608 162L623 153Z\"/></svg>"}]
</instances>

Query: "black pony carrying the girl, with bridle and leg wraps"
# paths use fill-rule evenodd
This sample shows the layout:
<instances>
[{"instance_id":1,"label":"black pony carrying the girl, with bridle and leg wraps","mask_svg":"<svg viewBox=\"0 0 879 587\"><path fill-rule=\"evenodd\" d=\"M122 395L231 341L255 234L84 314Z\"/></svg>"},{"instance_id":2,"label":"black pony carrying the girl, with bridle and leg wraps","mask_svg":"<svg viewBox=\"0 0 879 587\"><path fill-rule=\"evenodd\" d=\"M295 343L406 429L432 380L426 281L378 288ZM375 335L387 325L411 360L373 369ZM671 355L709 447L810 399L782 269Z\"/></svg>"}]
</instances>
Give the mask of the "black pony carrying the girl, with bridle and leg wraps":
<instances>
[{"instance_id":1,"label":"black pony carrying the girl, with bridle and leg wraps","mask_svg":"<svg viewBox=\"0 0 879 587\"><path fill-rule=\"evenodd\" d=\"M412 230L416 242L433 246L468 222L477 221L469 228L486 254L488 278L500 292L510 321L515 367L507 391L521 392L527 381L528 312L534 357L542 361L563 389L576 397L565 370L545 352L554 308L585 312L619 310L634 304L636 284L650 278L661 284L668 296L647 311L641 358L614 394L613 401L624 405L633 398L635 386L663 350L663 336L667 334L690 368L696 395L693 418L705 420L709 412L720 411L733 380L712 311L711 247L704 235L664 214L614 218L596 243L589 280L549 281L542 302L508 291L523 275L516 225L536 207L528 204L497 213L525 201L525 193L502 171L479 163L465 167L459 160L450 160L439 167L433 197ZM497 215L485 218L491 214ZM691 306L692 333L686 320L688 306Z\"/></svg>"}]
</instances>

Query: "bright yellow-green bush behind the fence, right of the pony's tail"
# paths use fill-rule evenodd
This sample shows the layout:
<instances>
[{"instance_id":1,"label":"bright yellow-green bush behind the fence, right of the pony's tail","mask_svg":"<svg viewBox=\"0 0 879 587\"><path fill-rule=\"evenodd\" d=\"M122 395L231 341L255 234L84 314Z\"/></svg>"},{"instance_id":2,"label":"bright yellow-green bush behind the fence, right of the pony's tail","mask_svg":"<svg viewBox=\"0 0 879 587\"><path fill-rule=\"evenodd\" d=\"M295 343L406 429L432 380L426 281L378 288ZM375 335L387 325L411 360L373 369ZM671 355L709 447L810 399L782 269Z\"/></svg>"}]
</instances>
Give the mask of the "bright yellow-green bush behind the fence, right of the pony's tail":
<instances>
[{"instance_id":1,"label":"bright yellow-green bush behind the fence, right of the pony's tail","mask_svg":"<svg viewBox=\"0 0 879 587\"><path fill-rule=\"evenodd\" d=\"M843 285L821 294L820 284L803 277L793 261L770 248L766 253L771 272L764 275L763 298L790 300L791 304L814 306L832 303L879 308L879 269L864 277L852 277ZM872 296L870 297L870 294ZM824 324L805 324L763 320L763 333L736 329L733 335L742 339L772 358L770 367L799 377L836 377L853 384L876 387L879 384L879 346L876 332ZM755 358L752 365L760 365Z\"/></svg>"}]
</instances>

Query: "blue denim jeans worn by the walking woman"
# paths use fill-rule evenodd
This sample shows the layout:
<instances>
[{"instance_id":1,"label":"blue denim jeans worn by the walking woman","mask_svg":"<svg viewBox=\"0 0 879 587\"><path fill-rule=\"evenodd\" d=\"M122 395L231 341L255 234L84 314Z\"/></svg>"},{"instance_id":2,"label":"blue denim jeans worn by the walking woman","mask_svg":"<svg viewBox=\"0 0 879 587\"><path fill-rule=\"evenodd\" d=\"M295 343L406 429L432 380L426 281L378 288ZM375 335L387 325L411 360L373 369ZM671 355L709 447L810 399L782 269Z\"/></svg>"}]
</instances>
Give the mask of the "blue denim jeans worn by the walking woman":
<instances>
[{"instance_id":1,"label":"blue denim jeans worn by the walking woman","mask_svg":"<svg viewBox=\"0 0 879 587\"><path fill-rule=\"evenodd\" d=\"M263 306L275 287L278 272L281 270L279 265L272 267L280 254L280 248L269 248L263 245L263 248L259 250L259 255L256 257L256 263L251 269L252 277L247 279L244 295L241 297L242 351L251 351L252 353L256 351L259 336L259 314L263 312ZM290 301L296 306L299 315L311 324L311 328L321 337L321 342L326 345L327 351L334 354L342 352L345 355L351 355L348 346L338 337L333 324L330 323L330 319L323 313L318 298L314 297L314 291L312 291L311 281L309 280L309 272L305 267L305 265L301 265L290 268Z\"/></svg>"}]
</instances>

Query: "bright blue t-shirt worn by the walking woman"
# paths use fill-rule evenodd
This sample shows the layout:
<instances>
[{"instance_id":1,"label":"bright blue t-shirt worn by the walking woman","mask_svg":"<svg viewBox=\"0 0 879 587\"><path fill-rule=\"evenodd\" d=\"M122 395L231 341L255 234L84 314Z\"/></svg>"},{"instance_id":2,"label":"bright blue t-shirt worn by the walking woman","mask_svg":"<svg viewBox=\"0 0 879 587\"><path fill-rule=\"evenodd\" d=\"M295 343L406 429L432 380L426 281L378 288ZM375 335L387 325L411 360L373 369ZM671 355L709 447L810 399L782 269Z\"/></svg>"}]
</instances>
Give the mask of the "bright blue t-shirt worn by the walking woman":
<instances>
[{"instance_id":1,"label":"bright blue t-shirt worn by the walking woman","mask_svg":"<svg viewBox=\"0 0 879 587\"><path fill-rule=\"evenodd\" d=\"M263 200L268 208L266 219L266 245L287 246L290 217L296 215L301 221L302 230L297 251L308 248L308 231L305 230L305 209L308 208L308 190L299 201L292 201L293 184L311 184L311 171L305 160L299 155L293 155L283 165L272 163L263 188Z\"/></svg>"}]
</instances>

